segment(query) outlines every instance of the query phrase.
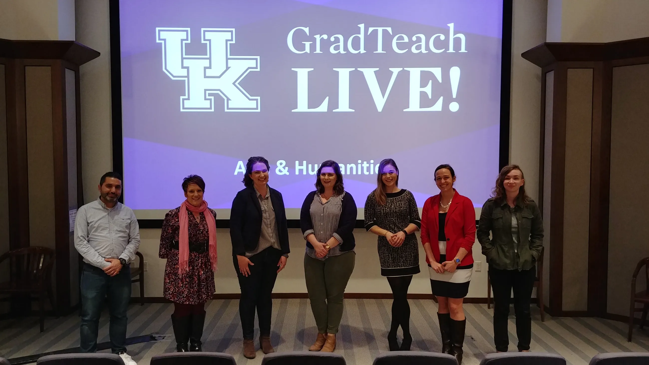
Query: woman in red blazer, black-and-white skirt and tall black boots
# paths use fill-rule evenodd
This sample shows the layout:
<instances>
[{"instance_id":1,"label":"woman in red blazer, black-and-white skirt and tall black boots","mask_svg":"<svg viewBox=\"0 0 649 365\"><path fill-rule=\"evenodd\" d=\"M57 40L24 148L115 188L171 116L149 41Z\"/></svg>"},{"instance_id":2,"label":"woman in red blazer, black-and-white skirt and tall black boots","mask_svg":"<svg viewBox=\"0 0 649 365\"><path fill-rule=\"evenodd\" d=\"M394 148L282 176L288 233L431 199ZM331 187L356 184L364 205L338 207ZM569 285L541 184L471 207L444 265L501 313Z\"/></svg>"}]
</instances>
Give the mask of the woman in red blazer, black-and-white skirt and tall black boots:
<instances>
[{"instance_id":1,"label":"woman in red blazer, black-and-white skirt and tall black boots","mask_svg":"<svg viewBox=\"0 0 649 365\"><path fill-rule=\"evenodd\" d=\"M476 213L471 199L453 189L455 180L450 165L435 169L439 194L424 203L421 242L426 251L430 287L439 303L442 352L455 355L461 365L467 324L462 301L469 292L473 271L471 248L476 241Z\"/></svg>"}]
</instances>

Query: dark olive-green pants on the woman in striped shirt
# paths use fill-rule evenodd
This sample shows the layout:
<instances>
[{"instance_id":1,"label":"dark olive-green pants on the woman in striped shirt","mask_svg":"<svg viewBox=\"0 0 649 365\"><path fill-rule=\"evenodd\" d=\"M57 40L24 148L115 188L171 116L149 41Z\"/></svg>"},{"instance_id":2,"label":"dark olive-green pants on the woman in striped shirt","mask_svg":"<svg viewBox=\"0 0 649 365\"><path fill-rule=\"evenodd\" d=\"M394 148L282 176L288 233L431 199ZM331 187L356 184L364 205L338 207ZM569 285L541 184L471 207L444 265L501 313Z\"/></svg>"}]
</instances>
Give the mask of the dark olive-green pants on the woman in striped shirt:
<instances>
[{"instance_id":1,"label":"dark olive-green pants on the woman in striped shirt","mask_svg":"<svg viewBox=\"0 0 649 365\"><path fill-rule=\"evenodd\" d=\"M304 254L304 277L318 333L338 333L343 318L343 294L354 271L356 252L324 261Z\"/></svg>"}]
</instances>

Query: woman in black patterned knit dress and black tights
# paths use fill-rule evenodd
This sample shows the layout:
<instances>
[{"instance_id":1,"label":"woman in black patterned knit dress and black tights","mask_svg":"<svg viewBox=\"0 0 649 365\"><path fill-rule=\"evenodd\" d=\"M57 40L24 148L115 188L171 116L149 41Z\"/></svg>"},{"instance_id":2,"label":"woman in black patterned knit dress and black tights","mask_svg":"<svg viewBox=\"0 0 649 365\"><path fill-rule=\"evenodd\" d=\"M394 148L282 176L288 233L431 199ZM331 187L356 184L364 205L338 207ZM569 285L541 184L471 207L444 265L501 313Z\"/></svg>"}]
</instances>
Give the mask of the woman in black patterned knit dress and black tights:
<instances>
[{"instance_id":1,"label":"woman in black patterned knit dress and black tights","mask_svg":"<svg viewBox=\"0 0 649 365\"><path fill-rule=\"evenodd\" d=\"M392 288L392 323L387 334L390 351L408 351L410 335L410 305L408 287L414 274L419 274L419 244L415 231L421 220L417 202L410 191L399 189L399 170L393 159L384 159L378 165L376 190L365 201L365 230L378 235L378 258L381 275L387 277ZM401 325L404 339L397 342Z\"/></svg>"}]
</instances>

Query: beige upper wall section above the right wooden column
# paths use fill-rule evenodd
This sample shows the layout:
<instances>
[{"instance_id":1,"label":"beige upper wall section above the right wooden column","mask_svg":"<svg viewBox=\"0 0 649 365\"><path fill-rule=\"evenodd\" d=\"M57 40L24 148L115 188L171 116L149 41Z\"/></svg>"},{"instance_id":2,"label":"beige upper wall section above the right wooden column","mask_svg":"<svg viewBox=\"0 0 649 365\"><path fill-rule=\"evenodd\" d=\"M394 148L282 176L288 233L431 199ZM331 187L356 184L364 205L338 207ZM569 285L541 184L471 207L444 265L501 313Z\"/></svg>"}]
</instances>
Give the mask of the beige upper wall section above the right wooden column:
<instances>
[{"instance_id":1,"label":"beige upper wall section above the right wooden column","mask_svg":"<svg viewBox=\"0 0 649 365\"><path fill-rule=\"evenodd\" d=\"M647 0L548 0L548 41L610 42L649 37Z\"/></svg>"}]
</instances>

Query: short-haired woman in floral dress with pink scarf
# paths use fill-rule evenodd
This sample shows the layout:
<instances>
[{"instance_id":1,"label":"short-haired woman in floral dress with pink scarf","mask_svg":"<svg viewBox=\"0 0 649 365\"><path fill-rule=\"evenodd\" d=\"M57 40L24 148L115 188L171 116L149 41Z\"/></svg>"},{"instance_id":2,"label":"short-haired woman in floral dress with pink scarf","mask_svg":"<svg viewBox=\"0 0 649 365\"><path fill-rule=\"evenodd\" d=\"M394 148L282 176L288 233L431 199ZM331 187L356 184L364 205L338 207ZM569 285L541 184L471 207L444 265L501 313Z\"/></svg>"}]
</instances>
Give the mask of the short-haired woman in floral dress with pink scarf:
<instances>
[{"instance_id":1,"label":"short-haired woman in floral dress with pink scarf","mask_svg":"<svg viewBox=\"0 0 649 365\"><path fill-rule=\"evenodd\" d=\"M167 213L160 235L164 298L173 301L171 314L178 352L202 351L205 303L214 294L216 212L203 200L205 182L190 175L182 181L187 198Z\"/></svg>"}]
</instances>

